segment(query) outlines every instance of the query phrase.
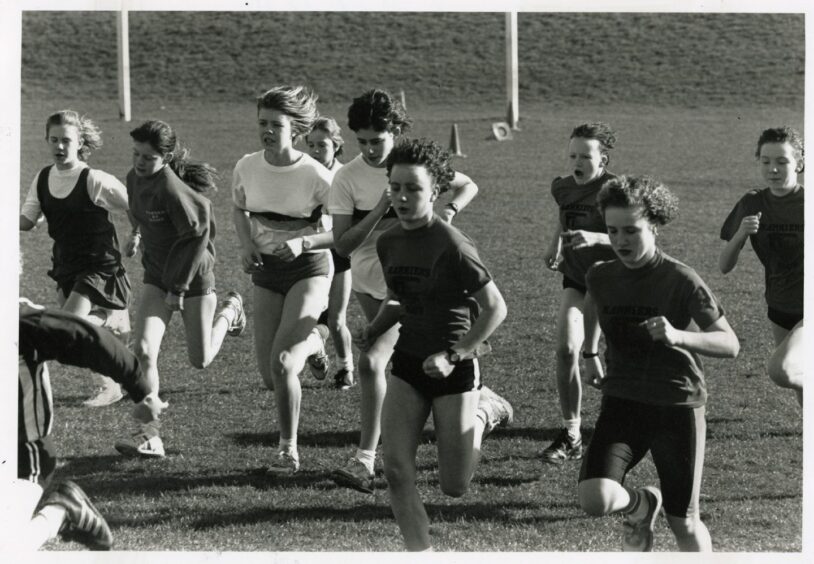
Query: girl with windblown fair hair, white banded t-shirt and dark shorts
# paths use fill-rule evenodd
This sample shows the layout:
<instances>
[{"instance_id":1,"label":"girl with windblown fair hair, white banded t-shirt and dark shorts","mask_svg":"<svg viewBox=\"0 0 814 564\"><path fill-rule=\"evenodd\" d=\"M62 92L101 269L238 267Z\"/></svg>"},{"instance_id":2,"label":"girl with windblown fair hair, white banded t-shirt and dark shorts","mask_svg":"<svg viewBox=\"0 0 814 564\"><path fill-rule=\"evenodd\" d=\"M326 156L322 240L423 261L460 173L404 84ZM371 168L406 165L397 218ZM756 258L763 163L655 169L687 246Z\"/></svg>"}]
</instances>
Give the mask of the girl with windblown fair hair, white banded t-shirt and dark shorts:
<instances>
[{"instance_id":1,"label":"girl with windblown fair hair, white banded t-shirt and dark shorts","mask_svg":"<svg viewBox=\"0 0 814 564\"><path fill-rule=\"evenodd\" d=\"M254 283L254 341L263 382L274 390L280 448L271 471L299 470L299 374L306 361L325 377L327 306L333 275L331 232L319 233L330 172L294 148L317 117L317 96L303 86L272 88L257 100L262 150L244 156L232 181L243 268Z\"/></svg>"}]
</instances>

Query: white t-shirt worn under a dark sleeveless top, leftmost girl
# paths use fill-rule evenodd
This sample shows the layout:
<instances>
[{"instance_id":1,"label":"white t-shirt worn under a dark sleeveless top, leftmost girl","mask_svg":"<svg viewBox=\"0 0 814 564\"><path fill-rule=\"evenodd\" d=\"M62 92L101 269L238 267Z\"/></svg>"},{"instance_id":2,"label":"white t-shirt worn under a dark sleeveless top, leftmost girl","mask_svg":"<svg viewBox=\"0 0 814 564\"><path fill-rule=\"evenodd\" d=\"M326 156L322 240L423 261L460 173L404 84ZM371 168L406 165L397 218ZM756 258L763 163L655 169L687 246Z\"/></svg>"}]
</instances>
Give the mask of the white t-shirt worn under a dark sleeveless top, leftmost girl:
<instances>
[{"instance_id":1,"label":"white t-shirt worn under a dark sleeveless top, leftmost girl","mask_svg":"<svg viewBox=\"0 0 814 564\"><path fill-rule=\"evenodd\" d=\"M88 168L87 163L82 161L68 170L59 170L56 166L52 166L48 172L48 191L54 198L60 200L67 198L76 187L79 175L86 168ZM42 216L40 198L37 195L39 178L40 173L38 172L31 182L28 195L20 210L20 215L32 223L37 223ZM124 184L112 174L95 168L90 169L88 173L88 196L91 202L109 212L121 212L128 209L127 188L124 187Z\"/></svg>"}]
</instances>

